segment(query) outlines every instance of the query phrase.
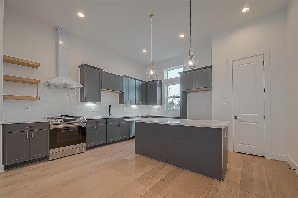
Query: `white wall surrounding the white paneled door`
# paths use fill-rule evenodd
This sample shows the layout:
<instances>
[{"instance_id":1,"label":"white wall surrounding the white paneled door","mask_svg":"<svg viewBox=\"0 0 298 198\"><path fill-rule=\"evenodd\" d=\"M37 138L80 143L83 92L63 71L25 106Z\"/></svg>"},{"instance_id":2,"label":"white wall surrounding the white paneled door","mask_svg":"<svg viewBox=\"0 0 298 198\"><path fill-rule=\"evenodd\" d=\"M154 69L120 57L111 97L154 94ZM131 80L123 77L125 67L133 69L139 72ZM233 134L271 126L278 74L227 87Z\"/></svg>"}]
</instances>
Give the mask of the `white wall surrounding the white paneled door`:
<instances>
[{"instance_id":1,"label":"white wall surrounding the white paneled door","mask_svg":"<svg viewBox=\"0 0 298 198\"><path fill-rule=\"evenodd\" d=\"M286 72L286 12L281 10L239 26L212 34L212 117L232 121L232 98L228 91L227 59L259 50L270 50L271 152L277 158L288 154L286 123L289 116ZM296 81L296 80L295 80ZM294 80L292 80L294 83ZM233 133L232 124L229 133ZM229 136L230 137L230 136ZM229 139L229 150L233 140Z\"/></svg>"}]
</instances>

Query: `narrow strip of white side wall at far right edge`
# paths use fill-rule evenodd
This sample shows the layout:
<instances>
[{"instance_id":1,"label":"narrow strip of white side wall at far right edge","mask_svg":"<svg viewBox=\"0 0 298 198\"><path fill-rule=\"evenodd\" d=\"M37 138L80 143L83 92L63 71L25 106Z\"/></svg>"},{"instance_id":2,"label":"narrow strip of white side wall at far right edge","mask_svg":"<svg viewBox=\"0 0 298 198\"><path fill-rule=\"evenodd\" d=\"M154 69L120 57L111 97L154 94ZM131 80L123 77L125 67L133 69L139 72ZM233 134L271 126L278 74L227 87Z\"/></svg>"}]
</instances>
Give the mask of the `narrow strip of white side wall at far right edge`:
<instances>
[{"instance_id":1,"label":"narrow strip of white side wall at far right edge","mask_svg":"<svg viewBox=\"0 0 298 198\"><path fill-rule=\"evenodd\" d=\"M298 167L298 1L287 5L287 131L288 155L292 167ZM298 174L298 169L297 169Z\"/></svg>"}]
</instances>

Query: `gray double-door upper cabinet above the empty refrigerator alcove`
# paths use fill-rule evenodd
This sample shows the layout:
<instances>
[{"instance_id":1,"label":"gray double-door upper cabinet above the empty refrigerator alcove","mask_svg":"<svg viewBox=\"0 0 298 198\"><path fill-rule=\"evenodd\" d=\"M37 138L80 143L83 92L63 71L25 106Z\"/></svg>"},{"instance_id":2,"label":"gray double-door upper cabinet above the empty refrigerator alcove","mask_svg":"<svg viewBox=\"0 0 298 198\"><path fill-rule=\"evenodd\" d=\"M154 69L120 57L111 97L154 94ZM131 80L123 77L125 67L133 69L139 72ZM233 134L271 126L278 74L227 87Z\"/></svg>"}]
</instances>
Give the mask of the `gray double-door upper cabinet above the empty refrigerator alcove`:
<instances>
[{"instance_id":1,"label":"gray double-door upper cabinet above the empty refrigerator alcove","mask_svg":"<svg viewBox=\"0 0 298 198\"><path fill-rule=\"evenodd\" d=\"M212 87L211 66L198 68L193 71L181 72L181 88L182 90L200 89Z\"/></svg>"}]
</instances>

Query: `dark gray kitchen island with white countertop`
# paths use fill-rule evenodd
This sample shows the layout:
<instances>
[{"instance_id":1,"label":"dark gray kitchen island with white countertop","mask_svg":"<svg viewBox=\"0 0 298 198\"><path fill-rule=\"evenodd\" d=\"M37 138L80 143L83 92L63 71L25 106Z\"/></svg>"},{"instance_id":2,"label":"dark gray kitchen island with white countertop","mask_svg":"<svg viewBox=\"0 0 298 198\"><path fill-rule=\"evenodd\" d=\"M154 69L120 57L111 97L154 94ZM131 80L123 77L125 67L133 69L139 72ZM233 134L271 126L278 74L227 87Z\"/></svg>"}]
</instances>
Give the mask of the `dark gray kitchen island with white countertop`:
<instances>
[{"instance_id":1,"label":"dark gray kitchen island with white countertop","mask_svg":"<svg viewBox=\"0 0 298 198\"><path fill-rule=\"evenodd\" d=\"M223 181L230 121L167 118L136 122L135 153Z\"/></svg>"}]
</instances>

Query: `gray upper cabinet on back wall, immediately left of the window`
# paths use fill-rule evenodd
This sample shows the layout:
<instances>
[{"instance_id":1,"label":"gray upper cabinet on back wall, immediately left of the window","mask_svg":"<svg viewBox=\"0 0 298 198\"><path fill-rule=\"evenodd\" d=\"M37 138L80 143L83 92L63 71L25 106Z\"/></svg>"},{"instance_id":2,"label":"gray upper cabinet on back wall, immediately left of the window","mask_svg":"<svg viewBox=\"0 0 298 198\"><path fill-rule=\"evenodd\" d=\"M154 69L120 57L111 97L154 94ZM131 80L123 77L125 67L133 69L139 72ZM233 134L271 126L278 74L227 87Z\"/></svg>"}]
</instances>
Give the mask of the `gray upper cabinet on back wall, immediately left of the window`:
<instances>
[{"instance_id":1,"label":"gray upper cabinet on back wall, immediately left of the window","mask_svg":"<svg viewBox=\"0 0 298 198\"><path fill-rule=\"evenodd\" d=\"M162 104L162 81L154 80L147 82L147 104Z\"/></svg>"}]
</instances>

